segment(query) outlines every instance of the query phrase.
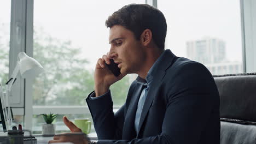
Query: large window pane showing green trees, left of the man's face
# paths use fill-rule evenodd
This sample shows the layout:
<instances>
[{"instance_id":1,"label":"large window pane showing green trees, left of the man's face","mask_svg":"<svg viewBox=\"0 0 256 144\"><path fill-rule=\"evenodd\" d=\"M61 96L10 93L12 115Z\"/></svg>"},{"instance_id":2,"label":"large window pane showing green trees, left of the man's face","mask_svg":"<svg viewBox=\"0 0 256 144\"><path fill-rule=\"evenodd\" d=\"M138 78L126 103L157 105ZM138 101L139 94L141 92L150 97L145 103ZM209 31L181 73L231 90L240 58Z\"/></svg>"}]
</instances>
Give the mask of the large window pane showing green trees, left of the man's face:
<instances>
[{"instance_id":1,"label":"large window pane showing green trees, left of the man's face","mask_svg":"<svg viewBox=\"0 0 256 144\"><path fill-rule=\"evenodd\" d=\"M94 91L97 59L110 48L105 21L129 3L145 1L34 1L33 56L45 70L33 84L34 133L42 130L42 112L91 118L85 98ZM126 76L110 87L115 107L124 104L134 79L134 75ZM58 111L60 107L62 111ZM61 113L63 109L73 111ZM68 130L61 116L57 132Z\"/></svg>"}]
</instances>

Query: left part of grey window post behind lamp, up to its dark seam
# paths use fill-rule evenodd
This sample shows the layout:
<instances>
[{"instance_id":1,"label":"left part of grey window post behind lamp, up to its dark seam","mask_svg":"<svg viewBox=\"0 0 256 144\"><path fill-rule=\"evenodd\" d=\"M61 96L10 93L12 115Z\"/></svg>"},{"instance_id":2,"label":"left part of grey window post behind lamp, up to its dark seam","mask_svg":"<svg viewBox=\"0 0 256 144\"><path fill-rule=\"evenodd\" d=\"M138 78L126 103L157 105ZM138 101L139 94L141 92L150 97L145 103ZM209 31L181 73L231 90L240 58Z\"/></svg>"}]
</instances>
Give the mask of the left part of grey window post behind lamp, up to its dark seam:
<instances>
[{"instance_id":1,"label":"left part of grey window post behind lamp, up to its dark seam","mask_svg":"<svg viewBox=\"0 0 256 144\"><path fill-rule=\"evenodd\" d=\"M26 3L24 0L11 1L10 21L10 52L9 52L9 77L13 73L18 60L18 53L25 51L26 47ZM16 77L10 94L10 106L24 107L24 79ZM16 95L16 96L15 96ZM17 101L18 99L18 101ZM14 102L15 101L15 102Z\"/></svg>"}]
</instances>

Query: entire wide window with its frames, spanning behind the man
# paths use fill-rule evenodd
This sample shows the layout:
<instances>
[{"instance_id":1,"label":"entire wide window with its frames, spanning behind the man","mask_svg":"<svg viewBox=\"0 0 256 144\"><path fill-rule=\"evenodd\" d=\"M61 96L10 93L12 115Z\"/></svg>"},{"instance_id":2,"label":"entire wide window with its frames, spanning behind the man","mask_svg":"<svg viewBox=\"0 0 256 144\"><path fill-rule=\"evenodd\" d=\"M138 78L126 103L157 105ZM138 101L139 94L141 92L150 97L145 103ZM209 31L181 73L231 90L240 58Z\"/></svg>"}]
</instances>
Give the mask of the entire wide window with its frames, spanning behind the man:
<instances>
[{"instance_id":1,"label":"entire wide window with its frames, spanning behind the man","mask_svg":"<svg viewBox=\"0 0 256 144\"><path fill-rule=\"evenodd\" d=\"M18 90L15 89L14 100L20 99L14 112L19 114L16 122L22 123L25 119L26 129L31 129L33 115L34 133L39 133L43 123L40 113L59 113L57 125L61 124L63 115L68 115L71 119L89 117L84 99L93 89L94 64L96 59L109 49L108 29L104 26L104 21L113 11L125 4L144 2L158 5L166 16L168 25L166 48L171 49L177 56L203 61L202 63L211 70L212 74L241 73L243 66L246 67L247 72L253 72L255 69L256 51L253 49L255 47L253 41L256 38L254 37L256 28L253 24L256 20L254 18L256 3L253 0L241 1L245 65L241 64L241 20L238 0L224 2L220 0L1 1L1 83L8 80L9 70L15 66L17 55L21 51L26 51L30 56L33 53L46 70L45 74L40 75L33 82L33 85L28 80L15 82ZM12 15L10 15L11 10ZM34 27L32 27L33 15ZM17 22L19 32L17 32ZM79 67L80 64L83 67ZM82 79L79 76L83 76ZM126 86L135 77L134 75L124 79L120 87L119 85L111 87L115 108L118 109L124 103L128 89ZM34 104L30 101L31 90ZM56 129L67 130L64 126L57 126Z\"/></svg>"}]
</instances>

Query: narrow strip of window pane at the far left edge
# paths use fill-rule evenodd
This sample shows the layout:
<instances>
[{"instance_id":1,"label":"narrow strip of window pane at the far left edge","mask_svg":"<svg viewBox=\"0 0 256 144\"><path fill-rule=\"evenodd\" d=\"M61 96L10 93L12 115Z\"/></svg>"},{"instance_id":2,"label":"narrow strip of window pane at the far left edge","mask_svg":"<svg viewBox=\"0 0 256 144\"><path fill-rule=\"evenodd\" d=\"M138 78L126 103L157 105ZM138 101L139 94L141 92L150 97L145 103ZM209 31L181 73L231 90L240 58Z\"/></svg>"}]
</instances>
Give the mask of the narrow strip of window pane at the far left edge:
<instances>
[{"instance_id":1,"label":"narrow strip of window pane at the far left edge","mask_svg":"<svg viewBox=\"0 0 256 144\"><path fill-rule=\"evenodd\" d=\"M11 1L0 2L0 83L8 81Z\"/></svg>"}]
</instances>

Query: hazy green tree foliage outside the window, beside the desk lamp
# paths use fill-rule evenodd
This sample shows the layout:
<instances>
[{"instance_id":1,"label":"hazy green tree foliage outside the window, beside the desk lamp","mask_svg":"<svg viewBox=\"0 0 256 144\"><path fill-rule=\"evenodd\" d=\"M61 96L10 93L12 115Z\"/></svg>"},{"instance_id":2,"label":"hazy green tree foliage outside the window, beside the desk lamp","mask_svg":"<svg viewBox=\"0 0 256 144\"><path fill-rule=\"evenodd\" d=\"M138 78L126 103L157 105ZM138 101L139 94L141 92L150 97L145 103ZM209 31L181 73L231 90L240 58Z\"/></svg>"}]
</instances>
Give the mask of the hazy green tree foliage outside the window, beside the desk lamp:
<instances>
[{"instance_id":1,"label":"hazy green tree foliage outside the window, beside the desk lamp","mask_svg":"<svg viewBox=\"0 0 256 144\"><path fill-rule=\"evenodd\" d=\"M93 89L92 71L79 58L79 48L71 41L61 41L46 35L42 29L34 32L34 58L44 67L44 74L34 82L34 105L84 105L86 93Z\"/></svg>"}]
</instances>

